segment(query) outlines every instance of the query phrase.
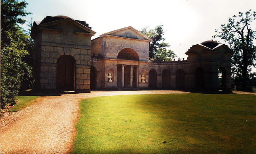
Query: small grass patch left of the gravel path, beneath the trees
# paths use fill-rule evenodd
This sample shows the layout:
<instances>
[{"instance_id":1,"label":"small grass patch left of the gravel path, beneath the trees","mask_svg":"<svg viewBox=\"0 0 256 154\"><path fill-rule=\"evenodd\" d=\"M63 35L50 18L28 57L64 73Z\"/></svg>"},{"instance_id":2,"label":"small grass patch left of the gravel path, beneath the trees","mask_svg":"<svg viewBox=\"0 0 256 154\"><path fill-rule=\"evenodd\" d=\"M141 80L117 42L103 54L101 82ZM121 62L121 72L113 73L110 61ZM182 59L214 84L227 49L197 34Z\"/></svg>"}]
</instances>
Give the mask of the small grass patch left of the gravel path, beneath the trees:
<instances>
[{"instance_id":1,"label":"small grass patch left of the gravel path, beneath the trees","mask_svg":"<svg viewBox=\"0 0 256 154\"><path fill-rule=\"evenodd\" d=\"M17 112L20 111L30 105L33 105L35 103L35 99L37 99L39 96L17 96L15 99L18 100L17 104L8 109L9 112Z\"/></svg>"}]
</instances>

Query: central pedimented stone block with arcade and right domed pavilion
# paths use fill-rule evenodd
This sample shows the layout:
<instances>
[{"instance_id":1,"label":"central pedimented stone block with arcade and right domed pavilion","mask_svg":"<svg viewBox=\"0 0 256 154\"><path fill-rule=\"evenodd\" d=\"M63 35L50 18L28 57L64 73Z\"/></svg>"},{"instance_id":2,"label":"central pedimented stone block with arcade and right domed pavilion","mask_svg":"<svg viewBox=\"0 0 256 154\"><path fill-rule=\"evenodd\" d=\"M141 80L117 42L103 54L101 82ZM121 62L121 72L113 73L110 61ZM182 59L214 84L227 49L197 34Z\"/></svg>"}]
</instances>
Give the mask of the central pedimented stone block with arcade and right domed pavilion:
<instances>
[{"instance_id":1,"label":"central pedimented stone block with arcade and right domed pavilion","mask_svg":"<svg viewBox=\"0 0 256 154\"><path fill-rule=\"evenodd\" d=\"M93 39L91 74L96 78L91 79L93 88L218 91L218 70L221 70L222 89L231 90L232 51L226 45L205 41L193 45L186 52L187 60L148 61L150 41L150 38L132 27ZM108 81L108 73L113 76L112 82Z\"/></svg>"}]
</instances>

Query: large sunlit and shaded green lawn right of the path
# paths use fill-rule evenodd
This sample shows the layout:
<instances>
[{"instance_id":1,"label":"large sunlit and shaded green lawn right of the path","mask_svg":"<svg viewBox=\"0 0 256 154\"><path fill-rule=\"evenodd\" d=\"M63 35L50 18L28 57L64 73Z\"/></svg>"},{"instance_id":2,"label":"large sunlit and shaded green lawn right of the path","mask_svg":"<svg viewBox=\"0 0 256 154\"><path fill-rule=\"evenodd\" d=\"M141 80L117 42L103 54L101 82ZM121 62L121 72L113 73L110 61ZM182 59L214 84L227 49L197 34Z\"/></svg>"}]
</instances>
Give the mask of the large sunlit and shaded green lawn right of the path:
<instances>
[{"instance_id":1,"label":"large sunlit and shaded green lawn right of the path","mask_svg":"<svg viewBox=\"0 0 256 154\"><path fill-rule=\"evenodd\" d=\"M96 97L80 113L73 153L256 153L256 95Z\"/></svg>"}]
</instances>

